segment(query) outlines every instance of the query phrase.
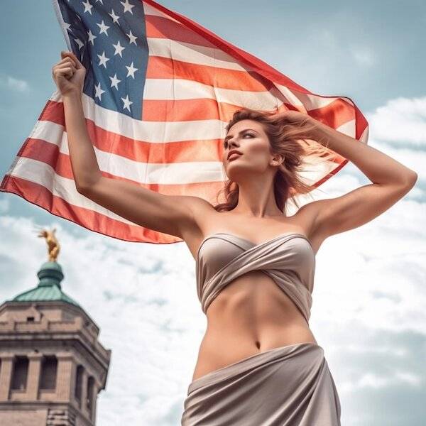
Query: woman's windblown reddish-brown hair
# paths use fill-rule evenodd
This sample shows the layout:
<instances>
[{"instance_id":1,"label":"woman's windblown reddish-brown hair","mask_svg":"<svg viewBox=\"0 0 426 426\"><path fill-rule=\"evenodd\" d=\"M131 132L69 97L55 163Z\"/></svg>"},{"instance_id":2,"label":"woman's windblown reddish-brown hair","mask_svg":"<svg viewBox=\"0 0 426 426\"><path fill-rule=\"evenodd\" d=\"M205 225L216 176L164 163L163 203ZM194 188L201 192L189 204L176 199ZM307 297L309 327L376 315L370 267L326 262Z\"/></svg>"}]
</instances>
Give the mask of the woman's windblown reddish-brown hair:
<instances>
[{"instance_id":1,"label":"woman's windblown reddish-brown hair","mask_svg":"<svg viewBox=\"0 0 426 426\"><path fill-rule=\"evenodd\" d=\"M307 143L305 139L309 131L315 128L315 124L309 124L306 120L301 124L293 124L285 121L279 116L273 117L276 111L258 111L256 109L243 108L234 112L234 116L226 126L229 131L234 124L241 120L254 120L261 123L268 136L271 145L271 153L281 154L284 157L283 163L278 166L273 180L273 192L278 209L284 212L288 199L292 199L297 207L295 195L307 194L313 185L307 185L303 182L298 173L303 168L304 158L309 156L310 163L327 161L333 158L333 152L320 143ZM225 202L216 204L214 209L217 212L232 210L238 204L239 186L232 180L226 180L224 187L217 194L224 193Z\"/></svg>"}]
</instances>

